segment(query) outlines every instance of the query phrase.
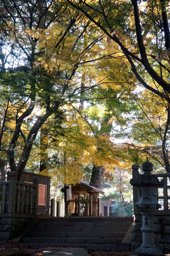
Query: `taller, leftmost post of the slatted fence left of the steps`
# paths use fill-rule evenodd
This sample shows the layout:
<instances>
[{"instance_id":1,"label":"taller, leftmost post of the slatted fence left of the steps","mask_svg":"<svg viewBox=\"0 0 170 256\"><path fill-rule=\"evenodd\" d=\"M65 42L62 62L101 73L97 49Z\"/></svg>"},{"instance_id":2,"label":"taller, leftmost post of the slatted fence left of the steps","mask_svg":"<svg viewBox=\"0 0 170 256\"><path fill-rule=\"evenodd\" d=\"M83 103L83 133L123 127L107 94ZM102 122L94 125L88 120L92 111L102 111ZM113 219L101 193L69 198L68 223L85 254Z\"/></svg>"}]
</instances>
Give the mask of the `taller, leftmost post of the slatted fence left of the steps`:
<instances>
[{"instance_id":1,"label":"taller, leftmost post of the slatted fence left of the steps","mask_svg":"<svg viewBox=\"0 0 170 256\"><path fill-rule=\"evenodd\" d=\"M17 180L17 173L16 172L11 172L10 173L10 178L9 178L8 212L15 212L16 180Z\"/></svg>"}]
</instances>

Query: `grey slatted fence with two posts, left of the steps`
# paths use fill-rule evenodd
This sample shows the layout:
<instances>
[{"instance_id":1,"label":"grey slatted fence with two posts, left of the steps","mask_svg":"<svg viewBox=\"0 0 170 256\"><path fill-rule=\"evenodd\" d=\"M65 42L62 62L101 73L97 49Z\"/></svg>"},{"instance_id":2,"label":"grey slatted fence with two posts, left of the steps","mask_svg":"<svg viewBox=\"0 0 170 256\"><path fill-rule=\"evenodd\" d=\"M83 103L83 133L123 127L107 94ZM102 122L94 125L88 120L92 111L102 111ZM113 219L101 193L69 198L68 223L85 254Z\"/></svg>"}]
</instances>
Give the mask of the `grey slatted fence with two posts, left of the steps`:
<instances>
[{"instance_id":1,"label":"grey slatted fence with two posts, left of the steps","mask_svg":"<svg viewBox=\"0 0 170 256\"><path fill-rule=\"evenodd\" d=\"M9 181L0 182L0 213L38 214L38 180L33 184L17 181L16 172Z\"/></svg>"}]
</instances>

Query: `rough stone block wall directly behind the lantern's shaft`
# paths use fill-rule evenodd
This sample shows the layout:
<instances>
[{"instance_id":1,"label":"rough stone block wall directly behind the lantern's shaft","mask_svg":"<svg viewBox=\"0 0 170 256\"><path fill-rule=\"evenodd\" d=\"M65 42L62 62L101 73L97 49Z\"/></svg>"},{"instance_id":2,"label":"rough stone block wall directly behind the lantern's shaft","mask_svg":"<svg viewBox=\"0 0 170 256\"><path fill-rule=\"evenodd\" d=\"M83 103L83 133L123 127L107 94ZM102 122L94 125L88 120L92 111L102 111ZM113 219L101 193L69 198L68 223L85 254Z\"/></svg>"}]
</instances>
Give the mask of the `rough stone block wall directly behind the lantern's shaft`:
<instances>
[{"instance_id":1,"label":"rough stone block wall directly behind the lantern's shaft","mask_svg":"<svg viewBox=\"0 0 170 256\"><path fill-rule=\"evenodd\" d=\"M170 252L170 215L167 214L167 211L161 210L159 212L154 216L154 243L156 248L168 254ZM135 223L131 236L132 252L140 247L142 243L141 227L142 216L138 212L138 214L135 214Z\"/></svg>"}]
</instances>

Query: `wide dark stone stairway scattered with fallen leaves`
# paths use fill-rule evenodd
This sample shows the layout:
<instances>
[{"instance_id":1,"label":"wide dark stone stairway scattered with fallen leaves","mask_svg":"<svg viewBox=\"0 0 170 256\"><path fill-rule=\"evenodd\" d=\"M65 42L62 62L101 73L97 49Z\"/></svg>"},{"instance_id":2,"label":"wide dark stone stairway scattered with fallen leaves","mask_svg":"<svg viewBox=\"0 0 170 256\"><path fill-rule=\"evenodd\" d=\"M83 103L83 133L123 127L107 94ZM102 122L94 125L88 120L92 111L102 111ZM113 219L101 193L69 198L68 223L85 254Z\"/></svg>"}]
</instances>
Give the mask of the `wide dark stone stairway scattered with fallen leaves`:
<instances>
[{"instance_id":1,"label":"wide dark stone stairway scattered with fallen leaves","mask_svg":"<svg viewBox=\"0 0 170 256\"><path fill-rule=\"evenodd\" d=\"M81 247L89 250L121 251L133 217L43 217L26 232L21 242L31 248Z\"/></svg>"}]
</instances>

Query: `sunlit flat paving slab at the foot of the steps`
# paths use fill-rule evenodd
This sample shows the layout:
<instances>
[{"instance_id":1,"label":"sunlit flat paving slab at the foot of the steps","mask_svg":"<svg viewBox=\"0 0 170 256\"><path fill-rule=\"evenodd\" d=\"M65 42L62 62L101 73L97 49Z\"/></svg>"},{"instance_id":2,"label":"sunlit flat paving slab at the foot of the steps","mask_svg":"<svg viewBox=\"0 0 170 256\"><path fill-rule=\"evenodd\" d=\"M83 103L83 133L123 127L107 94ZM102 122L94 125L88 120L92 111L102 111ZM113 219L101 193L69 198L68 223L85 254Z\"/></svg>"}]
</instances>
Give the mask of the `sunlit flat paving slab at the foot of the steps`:
<instances>
[{"instance_id":1,"label":"sunlit flat paving slab at the foot of the steps","mask_svg":"<svg viewBox=\"0 0 170 256\"><path fill-rule=\"evenodd\" d=\"M74 255L74 256L90 256L84 248L47 248L43 251L43 256L61 256L61 255Z\"/></svg>"}]
</instances>

